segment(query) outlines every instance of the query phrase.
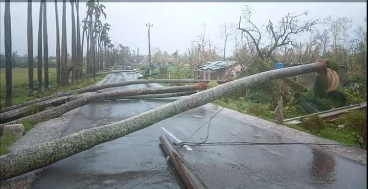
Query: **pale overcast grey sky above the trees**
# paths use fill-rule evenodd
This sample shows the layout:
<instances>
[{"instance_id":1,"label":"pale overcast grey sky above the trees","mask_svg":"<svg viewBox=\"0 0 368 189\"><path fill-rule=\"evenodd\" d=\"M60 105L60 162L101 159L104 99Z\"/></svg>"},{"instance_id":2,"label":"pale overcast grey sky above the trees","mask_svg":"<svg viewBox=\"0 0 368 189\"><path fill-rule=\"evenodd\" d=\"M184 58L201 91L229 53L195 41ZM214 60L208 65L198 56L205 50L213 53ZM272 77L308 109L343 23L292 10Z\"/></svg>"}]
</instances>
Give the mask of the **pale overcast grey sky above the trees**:
<instances>
[{"instance_id":1,"label":"pale overcast grey sky above the trees","mask_svg":"<svg viewBox=\"0 0 368 189\"><path fill-rule=\"evenodd\" d=\"M105 3L106 20L111 24L110 38L112 41L129 46L131 49L140 47L140 54L148 53L146 23L151 28L151 49L160 48L169 53L176 49L180 53L190 47L191 40L202 32L205 23L206 36L216 45L222 47L219 24L223 22L237 23L244 5L254 8L254 22L266 24L268 19L277 22L288 12L301 13L309 11L308 20L347 16L353 20L353 29L357 25L364 26L366 3ZM71 23L71 6L66 4L67 23ZM33 48L37 52L37 31L39 3L33 3ZM61 30L62 4L58 4L59 23ZM10 4L12 23L12 49L19 55L27 53L27 3ZM49 55L55 56L55 6L47 3ZM80 19L86 14L85 3L80 4ZM0 52L4 52L4 3L0 3ZM353 29L351 31L353 31ZM366 29L366 28L365 28ZM67 25L67 32L71 26ZM61 31L60 31L61 35ZM71 35L68 36L70 51ZM60 37L61 38L61 37ZM229 42L226 53L234 50L234 43ZM153 52L152 52L153 53Z\"/></svg>"}]
</instances>

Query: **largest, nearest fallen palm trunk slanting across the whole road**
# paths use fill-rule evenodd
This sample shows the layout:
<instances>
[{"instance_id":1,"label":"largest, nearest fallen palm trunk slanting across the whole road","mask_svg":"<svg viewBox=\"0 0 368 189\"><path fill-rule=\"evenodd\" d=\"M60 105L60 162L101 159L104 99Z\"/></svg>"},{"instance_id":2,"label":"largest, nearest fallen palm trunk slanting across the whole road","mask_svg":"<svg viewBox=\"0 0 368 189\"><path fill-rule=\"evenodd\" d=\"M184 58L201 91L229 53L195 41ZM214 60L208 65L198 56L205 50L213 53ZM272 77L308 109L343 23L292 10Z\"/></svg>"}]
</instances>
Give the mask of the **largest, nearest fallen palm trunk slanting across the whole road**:
<instances>
[{"instance_id":1,"label":"largest, nearest fallen palm trunk slanting across the whole road","mask_svg":"<svg viewBox=\"0 0 368 189\"><path fill-rule=\"evenodd\" d=\"M108 125L75 132L68 136L43 143L40 146L16 151L0 157L0 177L2 180L48 166L58 160L82 152L154 123L170 118L218 98L232 95L250 86L260 85L269 80L284 78L326 69L326 63L307 65L261 72L243 77L217 87L180 98L159 106L151 111Z\"/></svg>"}]
</instances>

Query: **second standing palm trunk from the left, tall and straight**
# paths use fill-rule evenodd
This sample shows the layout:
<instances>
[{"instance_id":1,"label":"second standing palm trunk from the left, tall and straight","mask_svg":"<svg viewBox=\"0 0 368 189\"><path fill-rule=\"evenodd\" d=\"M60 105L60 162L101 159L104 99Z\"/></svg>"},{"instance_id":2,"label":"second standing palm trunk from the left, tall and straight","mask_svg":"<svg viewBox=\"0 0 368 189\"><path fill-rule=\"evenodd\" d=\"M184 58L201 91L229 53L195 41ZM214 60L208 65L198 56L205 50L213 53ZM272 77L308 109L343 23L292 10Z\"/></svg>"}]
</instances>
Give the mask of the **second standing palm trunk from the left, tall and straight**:
<instances>
[{"instance_id":1,"label":"second standing palm trunk from the left, tall and straight","mask_svg":"<svg viewBox=\"0 0 368 189\"><path fill-rule=\"evenodd\" d=\"M33 96L33 29L32 29L32 0L27 8L27 50L28 50L28 96Z\"/></svg>"}]
</instances>

